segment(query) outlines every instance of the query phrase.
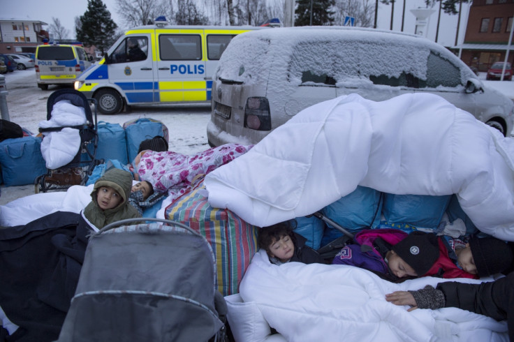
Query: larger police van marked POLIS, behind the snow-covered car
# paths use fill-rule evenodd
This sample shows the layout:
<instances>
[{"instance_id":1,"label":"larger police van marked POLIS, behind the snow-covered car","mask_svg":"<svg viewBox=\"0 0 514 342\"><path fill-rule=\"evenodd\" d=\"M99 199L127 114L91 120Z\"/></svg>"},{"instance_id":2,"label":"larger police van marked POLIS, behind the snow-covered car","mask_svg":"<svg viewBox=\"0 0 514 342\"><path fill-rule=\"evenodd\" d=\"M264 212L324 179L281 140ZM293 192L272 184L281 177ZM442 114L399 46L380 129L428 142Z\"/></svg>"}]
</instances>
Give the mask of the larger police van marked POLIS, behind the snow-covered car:
<instances>
[{"instance_id":1,"label":"larger police van marked POLIS, behind the snow-covered car","mask_svg":"<svg viewBox=\"0 0 514 342\"><path fill-rule=\"evenodd\" d=\"M103 114L124 105L210 101L212 75L219 57L237 34L263 27L136 27L110 47L104 58L75 82L75 89L95 98Z\"/></svg>"}]
</instances>

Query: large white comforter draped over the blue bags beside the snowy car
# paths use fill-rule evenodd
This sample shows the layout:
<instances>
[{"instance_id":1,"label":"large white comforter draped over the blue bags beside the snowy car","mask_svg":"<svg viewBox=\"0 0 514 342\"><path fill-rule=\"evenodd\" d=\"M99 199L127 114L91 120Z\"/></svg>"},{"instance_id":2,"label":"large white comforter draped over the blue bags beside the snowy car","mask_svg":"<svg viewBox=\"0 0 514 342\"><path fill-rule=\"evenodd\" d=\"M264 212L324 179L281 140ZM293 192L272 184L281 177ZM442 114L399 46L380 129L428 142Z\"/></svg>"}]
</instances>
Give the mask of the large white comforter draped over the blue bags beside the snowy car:
<instances>
[{"instance_id":1,"label":"large white comforter draped over the blue bags beside the snowy car","mask_svg":"<svg viewBox=\"0 0 514 342\"><path fill-rule=\"evenodd\" d=\"M456 193L473 223L514 241L514 140L443 98L353 94L308 107L207 175L213 207L266 226L306 216L358 185Z\"/></svg>"}]
</instances>

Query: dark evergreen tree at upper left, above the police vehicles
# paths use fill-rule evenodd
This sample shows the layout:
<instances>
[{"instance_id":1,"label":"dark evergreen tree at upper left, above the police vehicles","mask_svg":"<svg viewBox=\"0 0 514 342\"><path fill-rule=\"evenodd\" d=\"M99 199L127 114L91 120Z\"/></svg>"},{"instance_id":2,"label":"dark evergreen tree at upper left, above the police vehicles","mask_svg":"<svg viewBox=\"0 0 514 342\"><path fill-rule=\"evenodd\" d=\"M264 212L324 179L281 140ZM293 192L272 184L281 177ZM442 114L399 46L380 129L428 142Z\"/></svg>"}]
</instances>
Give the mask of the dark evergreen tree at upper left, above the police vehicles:
<instances>
[{"instance_id":1,"label":"dark evergreen tree at upper left, above the police vehicles","mask_svg":"<svg viewBox=\"0 0 514 342\"><path fill-rule=\"evenodd\" d=\"M87 10L80 16L80 23L80 27L75 27L77 39L85 45L94 45L103 54L114 43L118 26L102 0L87 0Z\"/></svg>"}]
</instances>

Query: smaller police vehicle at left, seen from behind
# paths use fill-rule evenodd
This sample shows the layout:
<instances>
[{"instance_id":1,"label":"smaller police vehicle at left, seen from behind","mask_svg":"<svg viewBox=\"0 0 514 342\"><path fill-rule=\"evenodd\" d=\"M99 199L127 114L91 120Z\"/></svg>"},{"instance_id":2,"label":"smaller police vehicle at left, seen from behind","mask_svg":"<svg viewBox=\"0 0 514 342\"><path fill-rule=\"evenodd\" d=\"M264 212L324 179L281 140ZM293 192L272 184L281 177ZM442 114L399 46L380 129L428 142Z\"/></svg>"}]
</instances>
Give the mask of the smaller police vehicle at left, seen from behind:
<instances>
[{"instance_id":1,"label":"smaller police vehicle at left, seen from behind","mask_svg":"<svg viewBox=\"0 0 514 342\"><path fill-rule=\"evenodd\" d=\"M91 62L80 45L56 43L36 48L36 80L43 90L50 84L73 85L89 66Z\"/></svg>"}]
</instances>

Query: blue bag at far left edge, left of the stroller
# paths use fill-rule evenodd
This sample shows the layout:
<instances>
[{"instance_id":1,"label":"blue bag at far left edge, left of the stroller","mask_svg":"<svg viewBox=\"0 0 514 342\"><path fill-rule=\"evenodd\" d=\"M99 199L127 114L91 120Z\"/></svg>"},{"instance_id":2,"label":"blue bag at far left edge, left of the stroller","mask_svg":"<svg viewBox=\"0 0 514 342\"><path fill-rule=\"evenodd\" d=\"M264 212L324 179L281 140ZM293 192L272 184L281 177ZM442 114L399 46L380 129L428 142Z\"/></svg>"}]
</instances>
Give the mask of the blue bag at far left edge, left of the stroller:
<instances>
[{"instance_id":1,"label":"blue bag at far left edge, left of the stroller","mask_svg":"<svg viewBox=\"0 0 514 342\"><path fill-rule=\"evenodd\" d=\"M0 142L0 165L3 184L18 186L34 184L47 172L41 155L41 137L17 137Z\"/></svg>"}]
</instances>

